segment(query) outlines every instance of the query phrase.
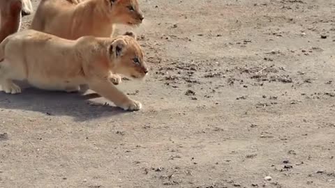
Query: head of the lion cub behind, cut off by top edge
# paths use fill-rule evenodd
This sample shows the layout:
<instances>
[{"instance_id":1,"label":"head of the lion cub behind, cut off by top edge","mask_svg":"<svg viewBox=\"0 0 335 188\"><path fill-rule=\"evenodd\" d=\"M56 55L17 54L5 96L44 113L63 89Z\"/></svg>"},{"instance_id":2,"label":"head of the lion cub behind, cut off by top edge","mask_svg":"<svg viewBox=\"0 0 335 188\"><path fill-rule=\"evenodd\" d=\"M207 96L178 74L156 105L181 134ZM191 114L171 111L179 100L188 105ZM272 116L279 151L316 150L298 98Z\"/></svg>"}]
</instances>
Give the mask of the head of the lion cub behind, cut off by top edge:
<instances>
[{"instance_id":1,"label":"head of the lion cub behind, cut off by top edge","mask_svg":"<svg viewBox=\"0 0 335 188\"><path fill-rule=\"evenodd\" d=\"M118 24L138 25L144 16L137 0L105 0L109 4L110 17Z\"/></svg>"}]
</instances>

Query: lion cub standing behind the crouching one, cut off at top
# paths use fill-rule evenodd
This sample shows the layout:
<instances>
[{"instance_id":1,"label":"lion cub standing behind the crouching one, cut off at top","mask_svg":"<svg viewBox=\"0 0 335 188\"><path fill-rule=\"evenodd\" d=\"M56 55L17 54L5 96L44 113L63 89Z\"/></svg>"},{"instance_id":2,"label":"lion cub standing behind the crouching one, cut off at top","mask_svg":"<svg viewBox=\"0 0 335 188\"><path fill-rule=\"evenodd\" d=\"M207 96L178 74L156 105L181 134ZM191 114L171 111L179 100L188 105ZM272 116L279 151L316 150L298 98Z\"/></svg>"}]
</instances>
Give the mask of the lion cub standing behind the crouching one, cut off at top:
<instances>
[{"instance_id":1,"label":"lion cub standing behind the crouching one, cut off at top","mask_svg":"<svg viewBox=\"0 0 335 188\"><path fill-rule=\"evenodd\" d=\"M138 25L142 19L137 0L42 0L31 29L71 40L110 37L114 24Z\"/></svg>"}]
</instances>

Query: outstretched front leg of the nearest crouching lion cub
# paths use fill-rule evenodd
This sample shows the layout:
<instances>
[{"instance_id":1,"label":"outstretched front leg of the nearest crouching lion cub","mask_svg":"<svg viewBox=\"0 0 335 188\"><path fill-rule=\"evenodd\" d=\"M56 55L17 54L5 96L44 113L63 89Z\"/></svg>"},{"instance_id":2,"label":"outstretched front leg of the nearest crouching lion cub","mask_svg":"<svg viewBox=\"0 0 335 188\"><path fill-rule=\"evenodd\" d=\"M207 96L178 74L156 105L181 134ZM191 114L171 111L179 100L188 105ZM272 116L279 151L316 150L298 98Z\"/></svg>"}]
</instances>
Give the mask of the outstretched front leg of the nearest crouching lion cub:
<instances>
[{"instance_id":1,"label":"outstretched front leg of the nearest crouching lion cub","mask_svg":"<svg viewBox=\"0 0 335 188\"><path fill-rule=\"evenodd\" d=\"M124 110L137 111L142 108L140 102L129 98L110 81L89 81L89 88Z\"/></svg>"}]
</instances>

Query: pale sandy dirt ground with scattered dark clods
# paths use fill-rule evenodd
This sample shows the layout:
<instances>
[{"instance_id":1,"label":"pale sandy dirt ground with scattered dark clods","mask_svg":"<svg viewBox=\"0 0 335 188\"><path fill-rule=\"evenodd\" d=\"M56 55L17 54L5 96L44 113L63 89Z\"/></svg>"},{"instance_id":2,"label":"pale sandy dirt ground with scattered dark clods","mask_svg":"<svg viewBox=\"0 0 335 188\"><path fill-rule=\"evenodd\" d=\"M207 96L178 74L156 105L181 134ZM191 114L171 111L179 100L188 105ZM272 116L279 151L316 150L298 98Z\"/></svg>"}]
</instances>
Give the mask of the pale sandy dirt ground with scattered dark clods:
<instances>
[{"instance_id":1,"label":"pale sandy dirt ground with scattered dark clods","mask_svg":"<svg viewBox=\"0 0 335 188\"><path fill-rule=\"evenodd\" d=\"M334 1L140 4L144 108L1 93L1 188L335 187Z\"/></svg>"}]
</instances>

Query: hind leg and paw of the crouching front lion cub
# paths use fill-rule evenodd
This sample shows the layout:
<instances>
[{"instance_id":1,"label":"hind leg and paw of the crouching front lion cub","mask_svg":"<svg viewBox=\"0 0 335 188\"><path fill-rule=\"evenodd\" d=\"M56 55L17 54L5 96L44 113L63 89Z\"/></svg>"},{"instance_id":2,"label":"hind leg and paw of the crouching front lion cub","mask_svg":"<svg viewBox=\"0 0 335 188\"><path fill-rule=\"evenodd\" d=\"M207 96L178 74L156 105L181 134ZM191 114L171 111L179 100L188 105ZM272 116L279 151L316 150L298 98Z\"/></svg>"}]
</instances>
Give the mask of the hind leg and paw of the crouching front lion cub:
<instances>
[{"instance_id":1,"label":"hind leg and paw of the crouching front lion cub","mask_svg":"<svg viewBox=\"0 0 335 188\"><path fill-rule=\"evenodd\" d=\"M12 79L10 79L12 72L6 68L8 63L9 62L6 61L6 59L0 62L0 91L10 94L21 93L20 86L14 84Z\"/></svg>"}]
</instances>

